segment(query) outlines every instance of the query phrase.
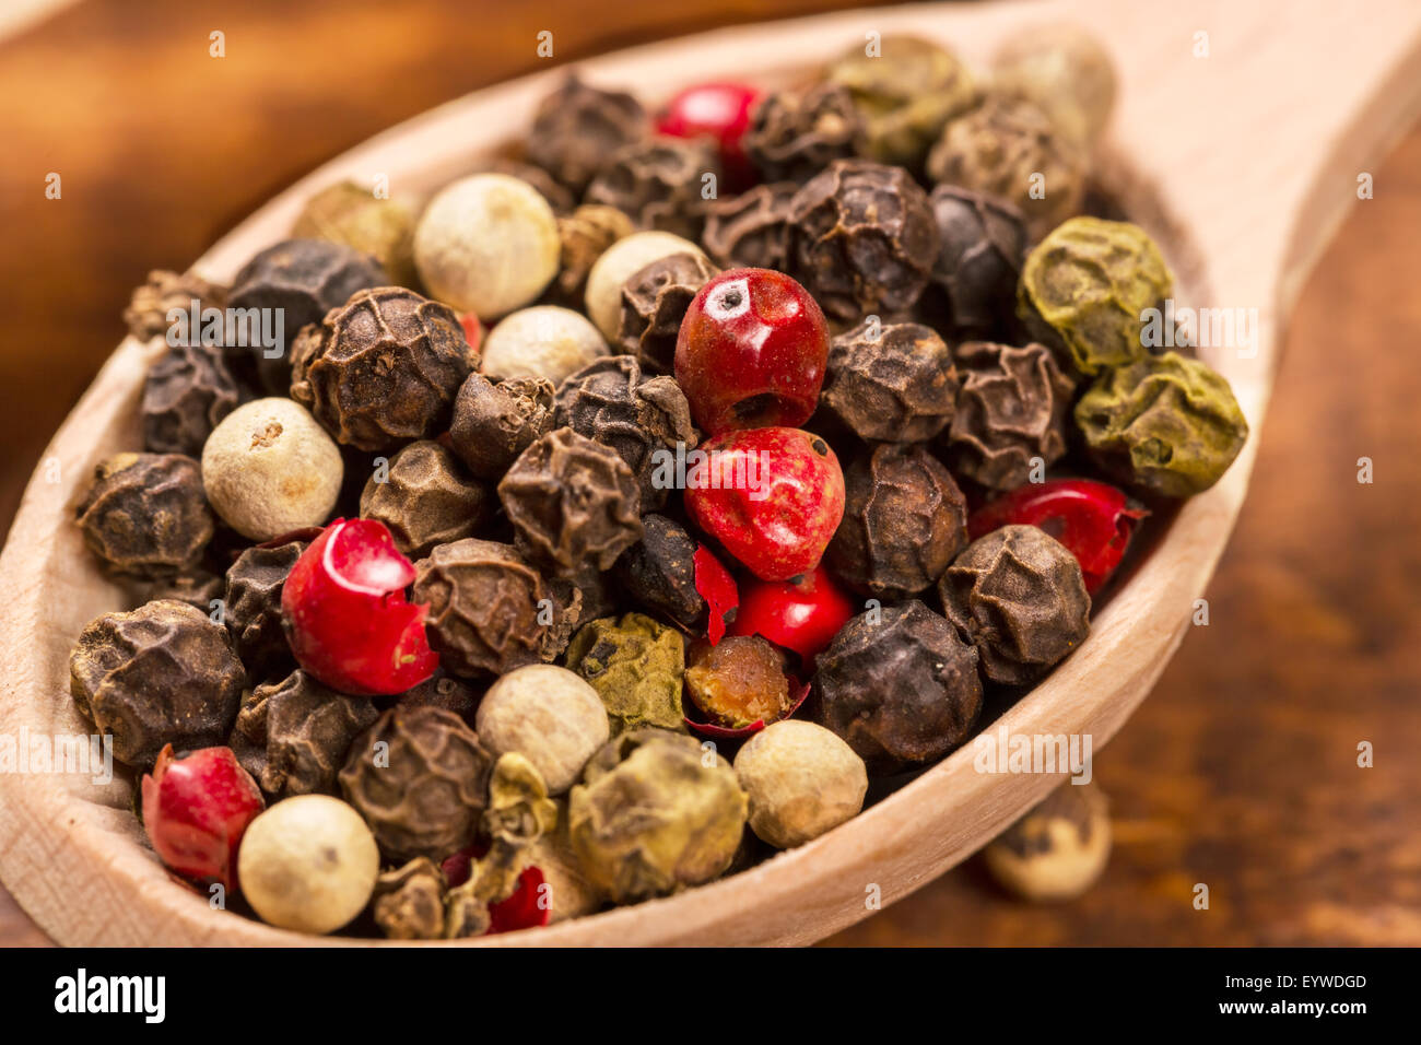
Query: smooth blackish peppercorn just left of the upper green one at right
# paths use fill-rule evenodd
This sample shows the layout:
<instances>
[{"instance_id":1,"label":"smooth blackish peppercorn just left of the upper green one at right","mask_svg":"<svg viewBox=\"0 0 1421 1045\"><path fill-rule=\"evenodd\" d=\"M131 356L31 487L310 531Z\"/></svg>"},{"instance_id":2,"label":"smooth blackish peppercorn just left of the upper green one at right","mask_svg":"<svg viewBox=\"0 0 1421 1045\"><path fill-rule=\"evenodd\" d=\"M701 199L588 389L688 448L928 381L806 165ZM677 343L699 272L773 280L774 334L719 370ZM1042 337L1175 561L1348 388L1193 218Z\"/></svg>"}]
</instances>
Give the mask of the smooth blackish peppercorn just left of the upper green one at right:
<instances>
[{"instance_id":1,"label":"smooth blackish peppercorn just left of the upper green one at right","mask_svg":"<svg viewBox=\"0 0 1421 1045\"><path fill-rule=\"evenodd\" d=\"M956 185L928 196L942 247L932 280L948 300L958 340L1003 331L1026 254L1026 219L1010 203Z\"/></svg>"}]
</instances>

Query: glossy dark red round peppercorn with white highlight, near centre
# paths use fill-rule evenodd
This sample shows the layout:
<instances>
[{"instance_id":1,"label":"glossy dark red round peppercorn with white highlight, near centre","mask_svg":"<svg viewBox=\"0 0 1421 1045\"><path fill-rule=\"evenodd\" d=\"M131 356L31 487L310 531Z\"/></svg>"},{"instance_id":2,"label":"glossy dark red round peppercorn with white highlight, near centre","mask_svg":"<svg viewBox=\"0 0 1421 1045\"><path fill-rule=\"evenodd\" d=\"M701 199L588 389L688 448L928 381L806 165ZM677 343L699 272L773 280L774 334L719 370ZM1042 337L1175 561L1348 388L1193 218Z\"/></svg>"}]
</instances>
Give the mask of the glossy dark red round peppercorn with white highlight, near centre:
<instances>
[{"instance_id":1,"label":"glossy dark red round peppercorn with white highlight, near centre","mask_svg":"<svg viewBox=\"0 0 1421 1045\"><path fill-rule=\"evenodd\" d=\"M710 435L804 424L827 367L824 313L772 269L730 269L709 280L676 336L676 384Z\"/></svg>"}]
</instances>

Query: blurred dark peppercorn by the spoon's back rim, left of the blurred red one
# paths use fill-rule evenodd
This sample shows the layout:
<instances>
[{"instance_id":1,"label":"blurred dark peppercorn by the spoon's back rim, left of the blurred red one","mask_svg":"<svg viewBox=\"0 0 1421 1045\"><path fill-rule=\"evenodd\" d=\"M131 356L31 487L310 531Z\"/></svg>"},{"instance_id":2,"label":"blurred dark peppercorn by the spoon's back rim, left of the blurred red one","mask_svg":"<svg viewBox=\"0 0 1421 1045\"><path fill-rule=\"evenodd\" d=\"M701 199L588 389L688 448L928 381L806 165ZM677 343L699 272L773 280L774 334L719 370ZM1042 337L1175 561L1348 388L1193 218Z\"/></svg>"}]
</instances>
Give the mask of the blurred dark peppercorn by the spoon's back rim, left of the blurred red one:
<instances>
[{"instance_id":1,"label":"blurred dark peppercorn by the spoon's back rim, left of the blurred red one","mask_svg":"<svg viewBox=\"0 0 1421 1045\"><path fill-rule=\"evenodd\" d=\"M581 196L607 158L651 129L641 102L570 75L533 117L527 158Z\"/></svg>"}]
</instances>

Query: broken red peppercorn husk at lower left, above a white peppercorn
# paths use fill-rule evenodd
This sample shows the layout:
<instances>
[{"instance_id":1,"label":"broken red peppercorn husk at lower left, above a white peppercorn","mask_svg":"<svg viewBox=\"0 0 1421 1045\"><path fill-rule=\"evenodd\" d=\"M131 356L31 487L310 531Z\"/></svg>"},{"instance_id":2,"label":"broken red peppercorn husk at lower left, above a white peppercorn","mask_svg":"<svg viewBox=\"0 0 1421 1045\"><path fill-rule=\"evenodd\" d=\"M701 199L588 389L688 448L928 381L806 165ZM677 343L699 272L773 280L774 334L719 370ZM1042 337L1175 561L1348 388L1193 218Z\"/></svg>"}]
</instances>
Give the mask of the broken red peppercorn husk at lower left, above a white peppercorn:
<instances>
[{"instance_id":1,"label":"broken red peppercorn husk at lower left, above a white peppercorn","mask_svg":"<svg viewBox=\"0 0 1421 1045\"><path fill-rule=\"evenodd\" d=\"M237 846L266 808L261 789L232 748L202 748L173 758L173 745L144 773L144 829L159 859L179 874L232 889Z\"/></svg>"}]
</instances>

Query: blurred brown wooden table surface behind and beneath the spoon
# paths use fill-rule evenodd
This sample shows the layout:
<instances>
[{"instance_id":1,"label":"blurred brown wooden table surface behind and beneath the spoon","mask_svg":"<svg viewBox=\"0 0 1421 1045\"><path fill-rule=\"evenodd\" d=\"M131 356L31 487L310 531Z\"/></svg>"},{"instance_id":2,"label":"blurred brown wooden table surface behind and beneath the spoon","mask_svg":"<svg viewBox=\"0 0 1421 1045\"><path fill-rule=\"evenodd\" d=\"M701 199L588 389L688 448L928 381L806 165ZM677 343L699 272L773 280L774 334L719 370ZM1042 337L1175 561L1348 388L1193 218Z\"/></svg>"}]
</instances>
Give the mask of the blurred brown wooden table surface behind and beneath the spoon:
<instances>
[{"instance_id":1,"label":"blurred brown wooden table surface behind and beneath the spoon","mask_svg":"<svg viewBox=\"0 0 1421 1045\"><path fill-rule=\"evenodd\" d=\"M314 165L534 68L544 28L563 61L848 6L84 0L0 41L0 527L131 287ZM831 944L1421 944L1421 128L1371 173L1292 318L1211 623L1097 759L1104 879L1029 907L972 862ZM0 944L44 943L0 889Z\"/></svg>"}]
</instances>

